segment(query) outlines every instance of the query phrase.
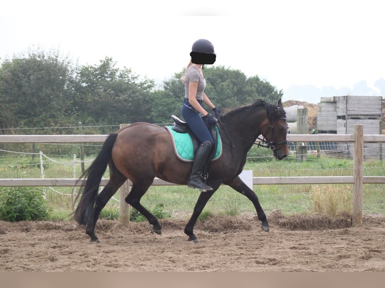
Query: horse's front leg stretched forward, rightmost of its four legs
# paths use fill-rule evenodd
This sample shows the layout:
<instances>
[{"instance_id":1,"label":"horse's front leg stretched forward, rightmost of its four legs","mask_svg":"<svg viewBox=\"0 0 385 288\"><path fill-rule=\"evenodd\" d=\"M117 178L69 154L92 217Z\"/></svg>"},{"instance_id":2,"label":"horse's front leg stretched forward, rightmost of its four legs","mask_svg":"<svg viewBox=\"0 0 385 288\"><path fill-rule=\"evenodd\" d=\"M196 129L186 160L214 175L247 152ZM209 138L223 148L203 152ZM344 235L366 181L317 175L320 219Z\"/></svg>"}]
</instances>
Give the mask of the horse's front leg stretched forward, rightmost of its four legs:
<instances>
[{"instance_id":1,"label":"horse's front leg stretched forward, rightmost of its four legs","mask_svg":"<svg viewBox=\"0 0 385 288\"><path fill-rule=\"evenodd\" d=\"M269 223L267 222L266 214L263 211L261 204L259 204L258 196L251 190L239 176L235 177L233 180L225 183L226 185L233 188L235 191L245 195L251 202L253 202L255 210L257 211L258 219L262 222L262 230L269 232Z\"/></svg>"}]
</instances>

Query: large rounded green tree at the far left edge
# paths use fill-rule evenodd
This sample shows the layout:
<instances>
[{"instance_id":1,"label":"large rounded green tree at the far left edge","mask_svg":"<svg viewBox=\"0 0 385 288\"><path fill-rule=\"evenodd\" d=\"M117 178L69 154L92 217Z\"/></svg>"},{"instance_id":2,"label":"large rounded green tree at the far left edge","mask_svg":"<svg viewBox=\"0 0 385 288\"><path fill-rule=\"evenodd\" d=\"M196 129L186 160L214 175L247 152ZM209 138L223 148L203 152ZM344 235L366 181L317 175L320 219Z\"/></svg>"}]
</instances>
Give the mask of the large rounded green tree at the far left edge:
<instances>
[{"instance_id":1,"label":"large rounded green tree at the far left edge","mask_svg":"<svg viewBox=\"0 0 385 288\"><path fill-rule=\"evenodd\" d=\"M58 52L30 50L0 68L1 128L65 125L71 118L71 61Z\"/></svg>"}]
</instances>

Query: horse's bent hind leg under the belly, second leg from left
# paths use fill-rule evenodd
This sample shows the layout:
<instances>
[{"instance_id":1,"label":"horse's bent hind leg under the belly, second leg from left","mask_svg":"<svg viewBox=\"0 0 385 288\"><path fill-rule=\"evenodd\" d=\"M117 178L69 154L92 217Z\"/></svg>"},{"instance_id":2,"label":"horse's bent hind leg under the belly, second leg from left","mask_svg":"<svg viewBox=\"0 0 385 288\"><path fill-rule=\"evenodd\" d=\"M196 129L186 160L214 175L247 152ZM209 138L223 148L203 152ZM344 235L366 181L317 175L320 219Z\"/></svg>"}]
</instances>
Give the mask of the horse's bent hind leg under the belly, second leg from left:
<instances>
[{"instance_id":1,"label":"horse's bent hind leg under the belly, second leg from left","mask_svg":"<svg viewBox=\"0 0 385 288\"><path fill-rule=\"evenodd\" d=\"M140 204L140 199L147 192L148 188L151 186L153 180L149 184L145 184L144 181L137 181L132 184L132 189L128 196L126 197L126 202L134 207L138 212L140 212L148 222L152 225L152 230L156 234L162 234L162 226L160 226L158 219L150 213L146 208ZM139 184L140 183L140 184Z\"/></svg>"}]
</instances>

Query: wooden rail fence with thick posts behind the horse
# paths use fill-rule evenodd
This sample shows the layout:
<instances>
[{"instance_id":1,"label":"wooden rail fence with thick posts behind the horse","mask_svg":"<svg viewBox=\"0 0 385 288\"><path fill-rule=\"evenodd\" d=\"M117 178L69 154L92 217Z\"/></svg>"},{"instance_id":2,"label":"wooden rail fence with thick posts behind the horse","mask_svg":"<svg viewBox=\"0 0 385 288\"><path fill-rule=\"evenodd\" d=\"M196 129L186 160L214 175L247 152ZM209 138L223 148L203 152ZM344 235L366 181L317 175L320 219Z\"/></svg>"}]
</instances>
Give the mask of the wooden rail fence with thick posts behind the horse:
<instances>
[{"instance_id":1,"label":"wooden rail fence with thick posts behind the horse","mask_svg":"<svg viewBox=\"0 0 385 288\"><path fill-rule=\"evenodd\" d=\"M0 135L0 143L77 143L104 142L108 135ZM363 125L354 125L354 134L288 134L287 140L292 142L353 142L353 175L352 176L317 176L317 177L253 177L253 185L271 184L353 184L353 225L362 224L362 184L385 183L385 176L363 176L363 143L384 143L385 135L364 135ZM74 186L77 179L0 179L1 186ZM105 186L108 179L102 179ZM78 186L83 183L77 183ZM153 185L175 185L155 178ZM129 225L129 209L124 199L129 192L127 181L121 189L120 215L121 221Z\"/></svg>"}]
</instances>

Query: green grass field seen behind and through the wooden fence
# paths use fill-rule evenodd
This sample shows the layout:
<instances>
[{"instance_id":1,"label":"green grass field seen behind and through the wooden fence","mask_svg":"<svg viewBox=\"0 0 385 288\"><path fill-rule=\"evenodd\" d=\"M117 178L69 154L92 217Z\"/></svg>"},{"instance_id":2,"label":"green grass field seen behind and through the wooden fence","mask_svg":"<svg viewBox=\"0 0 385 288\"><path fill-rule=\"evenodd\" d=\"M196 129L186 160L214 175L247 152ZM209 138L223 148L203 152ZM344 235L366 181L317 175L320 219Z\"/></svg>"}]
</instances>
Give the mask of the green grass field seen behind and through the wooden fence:
<instances>
[{"instance_id":1,"label":"green grass field seen behind and through the wooden fence","mask_svg":"<svg viewBox=\"0 0 385 288\"><path fill-rule=\"evenodd\" d=\"M55 162L44 161L45 178L73 178L73 164L70 157L50 157ZM92 160L93 157L89 157ZM89 165L86 162L86 167ZM247 162L245 170L253 170L254 177L268 176L350 176L353 175L353 161L321 156L308 156L305 162L296 162L293 159L283 161L270 160L266 162ZM76 175L81 174L80 165L76 167ZM365 176L385 175L385 166L380 161L369 160L364 162ZM0 158L1 178L41 178L40 160L30 159L27 155L18 157ZM108 170L105 174L108 177ZM2 188L0 188L2 189ZM72 212L71 187L41 187L46 195L52 212L51 220L69 220ZM385 214L385 200L382 184L364 184L363 212ZM352 194L352 185L324 184L324 185L254 185L261 206L266 214L274 210L281 210L283 215L337 213L332 207L333 197L342 197L350 205L349 196ZM150 211L156 209L157 204L163 204L164 212L172 217L189 217L198 200L199 191L188 189L186 186L152 186L143 196L141 203ZM103 217L118 217L119 192L114 195L102 210ZM342 201L341 199L334 199ZM323 204L322 204L323 202ZM334 205L334 204L333 204ZM346 204L339 204L342 209L348 209ZM327 211L327 209L332 210ZM230 187L221 186L205 207L205 215L226 214L240 215L255 213L251 201L235 192ZM203 216L202 216L203 217ZM206 216L205 216L206 217Z\"/></svg>"}]
</instances>

